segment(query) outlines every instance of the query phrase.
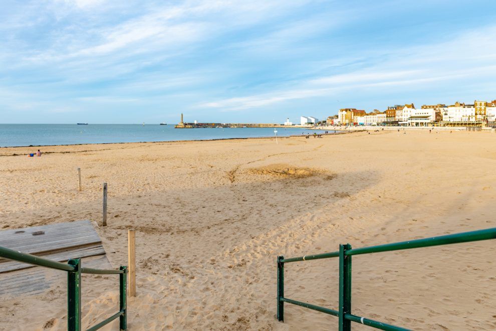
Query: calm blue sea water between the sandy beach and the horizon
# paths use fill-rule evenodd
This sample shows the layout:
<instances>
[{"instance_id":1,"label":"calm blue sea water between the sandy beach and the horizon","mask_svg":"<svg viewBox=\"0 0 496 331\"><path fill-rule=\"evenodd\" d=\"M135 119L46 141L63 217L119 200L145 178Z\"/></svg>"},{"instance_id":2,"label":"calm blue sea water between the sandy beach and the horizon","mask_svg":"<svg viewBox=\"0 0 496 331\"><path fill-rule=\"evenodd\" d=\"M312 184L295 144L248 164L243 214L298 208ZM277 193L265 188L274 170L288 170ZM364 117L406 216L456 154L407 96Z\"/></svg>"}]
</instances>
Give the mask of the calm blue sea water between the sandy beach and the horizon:
<instances>
[{"instance_id":1,"label":"calm blue sea water between the sandy beach and the horizon","mask_svg":"<svg viewBox=\"0 0 496 331\"><path fill-rule=\"evenodd\" d=\"M302 128L276 129L278 136L324 132ZM271 127L174 129L174 124L0 124L0 147L270 136L274 136Z\"/></svg>"}]
</instances>

